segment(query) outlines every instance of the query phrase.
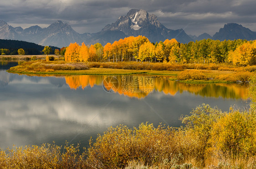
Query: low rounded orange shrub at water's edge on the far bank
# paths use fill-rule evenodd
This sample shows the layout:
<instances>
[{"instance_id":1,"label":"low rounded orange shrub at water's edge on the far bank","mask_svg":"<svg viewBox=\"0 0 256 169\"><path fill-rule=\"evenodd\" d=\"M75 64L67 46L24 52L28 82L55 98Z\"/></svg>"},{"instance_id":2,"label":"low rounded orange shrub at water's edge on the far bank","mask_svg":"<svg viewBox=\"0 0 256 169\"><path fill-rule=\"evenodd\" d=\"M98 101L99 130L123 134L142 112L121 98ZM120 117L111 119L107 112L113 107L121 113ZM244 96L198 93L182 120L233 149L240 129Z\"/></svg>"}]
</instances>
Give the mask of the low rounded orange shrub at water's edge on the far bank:
<instances>
[{"instance_id":1,"label":"low rounded orange shrub at water's edge on the far bank","mask_svg":"<svg viewBox=\"0 0 256 169\"><path fill-rule=\"evenodd\" d=\"M206 76L200 70L185 70L179 73L178 80L204 80Z\"/></svg>"}]
</instances>

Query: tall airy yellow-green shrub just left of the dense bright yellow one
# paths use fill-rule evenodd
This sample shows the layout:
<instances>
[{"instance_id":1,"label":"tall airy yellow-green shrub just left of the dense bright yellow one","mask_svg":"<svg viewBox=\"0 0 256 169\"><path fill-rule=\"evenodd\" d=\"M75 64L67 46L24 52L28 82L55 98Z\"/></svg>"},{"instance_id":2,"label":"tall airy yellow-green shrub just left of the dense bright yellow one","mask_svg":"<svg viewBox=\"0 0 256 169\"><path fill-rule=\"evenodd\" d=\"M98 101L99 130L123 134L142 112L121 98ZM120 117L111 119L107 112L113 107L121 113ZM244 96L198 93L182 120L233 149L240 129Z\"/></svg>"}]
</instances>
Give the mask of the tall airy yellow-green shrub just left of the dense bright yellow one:
<instances>
[{"instance_id":1,"label":"tall airy yellow-green shrub just left of the dense bright yellow one","mask_svg":"<svg viewBox=\"0 0 256 169\"><path fill-rule=\"evenodd\" d=\"M186 141L184 154L196 157L198 160L205 159L206 152L210 148L209 139L211 129L224 114L220 109L211 108L208 104L202 104L190 112L190 115L180 119L185 124L183 138ZM189 146L190 145L190 146Z\"/></svg>"}]
</instances>

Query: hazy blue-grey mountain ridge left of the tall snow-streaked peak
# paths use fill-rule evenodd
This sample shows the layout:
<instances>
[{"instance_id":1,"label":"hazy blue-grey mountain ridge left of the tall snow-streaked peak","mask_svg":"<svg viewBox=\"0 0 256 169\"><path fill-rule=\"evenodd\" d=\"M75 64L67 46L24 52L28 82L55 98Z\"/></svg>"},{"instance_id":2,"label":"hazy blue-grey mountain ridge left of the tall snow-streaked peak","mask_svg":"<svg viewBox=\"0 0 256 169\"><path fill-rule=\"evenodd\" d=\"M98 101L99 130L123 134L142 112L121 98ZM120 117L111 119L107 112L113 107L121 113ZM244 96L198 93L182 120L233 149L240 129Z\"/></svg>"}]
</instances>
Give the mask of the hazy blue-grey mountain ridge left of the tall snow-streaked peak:
<instances>
[{"instance_id":1,"label":"hazy blue-grey mountain ridge left of the tall snow-streaked peak","mask_svg":"<svg viewBox=\"0 0 256 169\"><path fill-rule=\"evenodd\" d=\"M47 28L41 28L36 25L24 30L21 27L14 28L1 20L0 39L23 40L39 45L57 47L67 46L70 42L84 41L80 34L73 30L70 25L61 22L61 20L52 23Z\"/></svg>"}]
</instances>

